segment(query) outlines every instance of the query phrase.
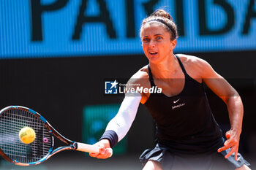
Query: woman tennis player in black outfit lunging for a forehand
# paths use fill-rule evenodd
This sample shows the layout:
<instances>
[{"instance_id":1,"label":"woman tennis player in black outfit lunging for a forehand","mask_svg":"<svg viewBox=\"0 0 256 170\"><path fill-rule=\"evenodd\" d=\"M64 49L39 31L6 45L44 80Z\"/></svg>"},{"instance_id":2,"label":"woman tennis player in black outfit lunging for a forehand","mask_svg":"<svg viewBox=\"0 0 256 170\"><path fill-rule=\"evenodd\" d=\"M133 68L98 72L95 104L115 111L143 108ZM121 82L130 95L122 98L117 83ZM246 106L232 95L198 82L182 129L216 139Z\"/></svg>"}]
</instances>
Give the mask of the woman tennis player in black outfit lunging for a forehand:
<instances>
[{"instance_id":1,"label":"woman tennis player in black outfit lunging for a forehand","mask_svg":"<svg viewBox=\"0 0 256 170\"><path fill-rule=\"evenodd\" d=\"M100 153L92 157L108 158L104 148L114 147L129 131L140 103L144 104L157 126L157 145L140 155L149 169L217 169L217 160L231 169L249 169L238 153L243 120L243 104L236 90L206 61L191 55L174 55L176 24L165 10L159 9L144 19L140 28L143 51L149 64L135 73L128 88L158 88L161 93L140 90L124 101L102 138ZM227 140L214 120L203 82L227 105L230 130ZM138 85L135 87L134 85ZM227 169L227 167L225 167Z\"/></svg>"}]
</instances>

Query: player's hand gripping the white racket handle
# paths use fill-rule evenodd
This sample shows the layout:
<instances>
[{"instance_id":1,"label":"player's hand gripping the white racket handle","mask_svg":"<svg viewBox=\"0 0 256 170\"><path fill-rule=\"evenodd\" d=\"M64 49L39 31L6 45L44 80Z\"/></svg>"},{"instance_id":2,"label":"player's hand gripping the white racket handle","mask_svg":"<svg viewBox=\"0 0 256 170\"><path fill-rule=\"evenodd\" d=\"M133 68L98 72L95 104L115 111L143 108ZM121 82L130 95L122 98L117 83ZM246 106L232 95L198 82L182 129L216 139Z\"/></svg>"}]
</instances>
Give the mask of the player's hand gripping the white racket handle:
<instances>
[{"instance_id":1,"label":"player's hand gripping the white racket handle","mask_svg":"<svg viewBox=\"0 0 256 170\"><path fill-rule=\"evenodd\" d=\"M99 158L99 159L106 159L106 158L110 158L112 156L112 150L110 148L110 142L108 141L108 139L102 139L99 142L97 142L96 144L94 144L94 146L99 147L99 153L94 153L91 152L89 153L89 155L91 157L94 158ZM110 152L111 150L111 152Z\"/></svg>"}]
</instances>

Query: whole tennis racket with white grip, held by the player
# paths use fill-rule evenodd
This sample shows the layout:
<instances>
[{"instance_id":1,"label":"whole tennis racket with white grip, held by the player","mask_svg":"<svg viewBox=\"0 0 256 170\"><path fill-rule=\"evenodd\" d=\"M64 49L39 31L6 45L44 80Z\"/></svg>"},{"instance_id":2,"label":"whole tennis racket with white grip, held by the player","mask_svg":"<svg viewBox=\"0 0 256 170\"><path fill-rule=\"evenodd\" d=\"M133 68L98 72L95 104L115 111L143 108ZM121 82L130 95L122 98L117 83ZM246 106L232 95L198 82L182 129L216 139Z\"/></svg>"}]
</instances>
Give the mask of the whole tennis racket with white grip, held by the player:
<instances>
[{"instance_id":1,"label":"whole tennis racket with white grip, held by the player","mask_svg":"<svg viewBox=\"0 0 256 170\"><path fill-rule=\"evenodd\" d=\"M19 131L24 127L34 129L35 139L30 144L20 140ZM66 145L54 148L54 136ZM48 160L63 150L99 152L99 147L73 142L56 131L42 115L32 109L10 106L0 111L0 155L19 166L31 166ZM112 149L108 148L112 155Z\"/></svg>"}]
</instances>

